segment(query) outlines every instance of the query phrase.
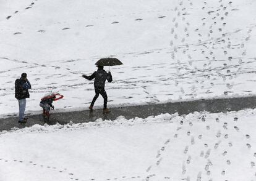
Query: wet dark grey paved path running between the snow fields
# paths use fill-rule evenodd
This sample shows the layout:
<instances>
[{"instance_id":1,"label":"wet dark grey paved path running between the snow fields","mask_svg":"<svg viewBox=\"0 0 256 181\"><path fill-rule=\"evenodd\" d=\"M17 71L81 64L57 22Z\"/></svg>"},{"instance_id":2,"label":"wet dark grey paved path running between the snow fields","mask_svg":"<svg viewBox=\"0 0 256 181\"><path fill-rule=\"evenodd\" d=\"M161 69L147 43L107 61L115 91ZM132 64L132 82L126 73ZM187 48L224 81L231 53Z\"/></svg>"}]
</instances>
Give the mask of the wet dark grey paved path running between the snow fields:
<instances>
[{"instance_id":1,"label":"wet dark grey paved path running between the snow fields","mask_svg":"<svg viewBox=\"0 0 256 181\"><path fill-rule=\"evenodd\" d=\"M187 115L194 111L209 111L210 113L218 113L225 111L238 111L244 108L256 108L256 97L239 97L231 99L211 99L211 100L194 100L187 102L175 102L164 104L138 105L130 107L111 108L111 113L103 114L103 110L84 110L72 111L64 113L53 113L49 120L43 119L41 115L28 116L28 122L19 124L17 117L9 117L0 119L0 131L11 130L14 127L22 128L33 126L34 124L43 125L51 124L67 124L70 121L73 123L87 123L95 121L98 118L116 119L118 116L125 116L126 119L147 118L152 115L160 115L161 113L179 113L179 115Z\"/></svg>"}]
</instances>

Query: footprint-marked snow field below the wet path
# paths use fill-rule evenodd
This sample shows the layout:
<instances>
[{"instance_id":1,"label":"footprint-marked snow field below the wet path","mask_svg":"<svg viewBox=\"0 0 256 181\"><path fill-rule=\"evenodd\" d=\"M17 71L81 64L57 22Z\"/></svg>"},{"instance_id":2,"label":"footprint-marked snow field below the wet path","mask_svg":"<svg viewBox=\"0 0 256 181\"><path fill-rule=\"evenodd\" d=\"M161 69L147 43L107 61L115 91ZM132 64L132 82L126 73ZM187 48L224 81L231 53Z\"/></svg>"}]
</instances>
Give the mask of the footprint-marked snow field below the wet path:
<instances>
[{"instance_id":1,"label":"footprint-marked snow field below the wet path","mask_svg":"<svg viewBox=\"0 0 256 181\"><path fill-rule=\"evenodd\" d=\"M0 180L256 180L256 109L0 133Z\"/></svg>"}]
</instances>

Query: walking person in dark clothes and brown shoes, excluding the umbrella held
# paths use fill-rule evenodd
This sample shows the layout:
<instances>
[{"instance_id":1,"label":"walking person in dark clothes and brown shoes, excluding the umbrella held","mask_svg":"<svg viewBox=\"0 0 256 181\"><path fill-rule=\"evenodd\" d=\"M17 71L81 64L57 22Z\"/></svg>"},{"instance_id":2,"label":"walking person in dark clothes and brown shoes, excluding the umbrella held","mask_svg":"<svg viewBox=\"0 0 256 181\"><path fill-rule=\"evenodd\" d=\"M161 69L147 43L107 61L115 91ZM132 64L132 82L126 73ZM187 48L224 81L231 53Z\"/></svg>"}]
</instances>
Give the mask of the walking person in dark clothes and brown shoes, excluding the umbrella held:
<instances>
[{"instance_id":1,"label":"walking person in dark clothes and brown shoes, excluding the umbrella held","mask_svg":"<svg viewBox=\"0 0 256 181\"><path fill-rule=\"evenodd\" d=\"M92 103L89 107L89 109L92 111L93 110L93 105L96 101L96 99L101 96L104 99L104 105L103 105L103 113L109 113L109 109L107 108L107 103L108 103L108 95L106 94L105 91L105 82L106 80L108 82L112 82L112 75L110 71L107 73L103 68L104 66L98 65L98 70L95 71L91 76L86 76L85 74L82 75L83 78L88 79L88 80L94 80L94 89L95 89L95 96L93 97Z\"/></svg>"}]
</instances>

